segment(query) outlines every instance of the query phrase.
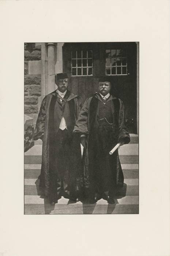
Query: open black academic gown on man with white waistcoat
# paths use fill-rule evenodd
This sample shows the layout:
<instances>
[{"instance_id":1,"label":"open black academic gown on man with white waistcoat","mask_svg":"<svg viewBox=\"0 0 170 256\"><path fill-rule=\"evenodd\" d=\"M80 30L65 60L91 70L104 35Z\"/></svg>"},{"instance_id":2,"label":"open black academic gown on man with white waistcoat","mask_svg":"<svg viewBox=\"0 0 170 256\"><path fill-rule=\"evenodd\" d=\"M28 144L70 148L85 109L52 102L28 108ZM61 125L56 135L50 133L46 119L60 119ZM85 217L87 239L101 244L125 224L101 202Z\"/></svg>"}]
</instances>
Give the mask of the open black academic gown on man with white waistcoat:
<instances>
[{"instance_id":1,"label":"open black academic gown on man with white waistcoat","mask_svg":"<svg viewBox=\"0 0 170 256\"><path fill-rule=\"evenodd\" d=\"M69 94L69 95L68 95ZM69 155L65 155L65 162L69 162L68 172L65 173L65 183L68 185L68 195L74 194L81 188L81 148L79 136L72 136L72 129L76 123L80 112L79 97L67 90L67 99L61 98L56 91L45 96L41 103L37 123L34 131L34 140L42 139L42 165L40 175L40 188L45 196L52 193L51 180L52 173L57 172L56 162L56 134L60 126L62 113L58 115L58 119L54 118L55 111L61 112L62 104L60 99L68 104L71 119L68 125L68 139L69 139ZM67 125L67 120L66 120ZM63 164L64 165L64 164ZM60 178L60 177L59 177ZM57 187L57 184L56 184ZM56 189L57 197L57 189Z\"/></svg>"}]
</instances>

